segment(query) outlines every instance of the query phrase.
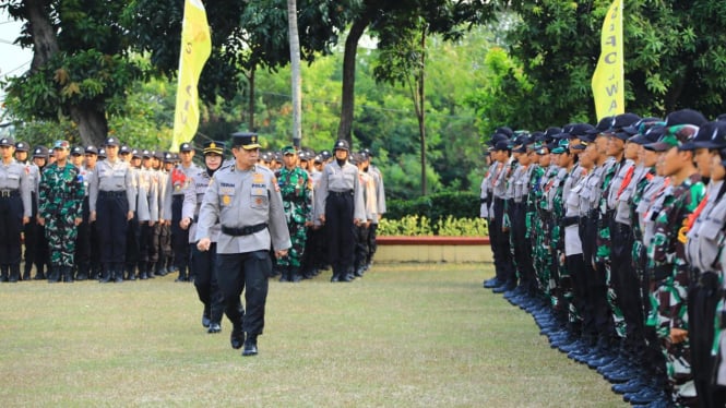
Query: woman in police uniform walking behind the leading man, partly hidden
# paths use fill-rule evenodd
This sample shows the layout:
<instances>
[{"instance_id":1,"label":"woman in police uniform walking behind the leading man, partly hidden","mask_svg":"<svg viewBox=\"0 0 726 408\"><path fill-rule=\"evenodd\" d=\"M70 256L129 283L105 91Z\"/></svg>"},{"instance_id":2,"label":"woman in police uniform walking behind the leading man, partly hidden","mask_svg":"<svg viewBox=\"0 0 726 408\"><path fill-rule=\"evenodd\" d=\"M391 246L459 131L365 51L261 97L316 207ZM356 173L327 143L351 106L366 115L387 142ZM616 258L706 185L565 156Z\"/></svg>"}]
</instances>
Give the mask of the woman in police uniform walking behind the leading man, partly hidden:
<instances>
[{"instance_id":1,"label":"woman in police uniform walking behind the leading man, partly hidden","mask_svg":"<svg viewBox=\"0 0 726 408\"><path fill-rule=\"evenodd\" d=\"M222 313L224 312L224 298L216 274L217 241L219 239L219 223L214 224L210 229L210 239L212 243L207 251L200 251L195 244L197 221L199 212L204 200L204 193L210 185L210 180L214 173L222 167L224 159L224 142L204 143L204 165L205 169L192 176L191 185L185 193L185 203L181 208L181 228L189 229L189 240L191 248L191 267L195 272L194 288L197 296L204 305L202 312L202 326L206 327L206 333L219 333L222 331Z\"/></svg>"}]
</instances>

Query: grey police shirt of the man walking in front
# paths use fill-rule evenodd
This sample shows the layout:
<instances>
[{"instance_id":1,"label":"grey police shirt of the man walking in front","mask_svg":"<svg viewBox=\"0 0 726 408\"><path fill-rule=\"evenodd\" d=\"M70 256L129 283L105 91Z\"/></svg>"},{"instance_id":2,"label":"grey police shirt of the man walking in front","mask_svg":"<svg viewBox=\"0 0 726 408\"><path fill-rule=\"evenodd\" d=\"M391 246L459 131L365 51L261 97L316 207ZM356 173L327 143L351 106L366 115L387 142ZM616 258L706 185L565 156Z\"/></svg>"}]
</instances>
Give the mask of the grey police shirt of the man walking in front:
<instances>
[{"instance_id":1,"label":"grey police shirt of the man walking in front","mask_svg":"<svg viewBox=\"0 0 726 408\"><path fill-rule=\"evenodd\" d=\"M217 253L269 251L271 243L275 250L291 247L277 181L273 172L263 166L254 165L250 170L229 166L214 173L200 208L195 241L211 238L217 219L228 228L267 224L267 228L248 236L222 233Z\"/></svg>"}]
</instances>

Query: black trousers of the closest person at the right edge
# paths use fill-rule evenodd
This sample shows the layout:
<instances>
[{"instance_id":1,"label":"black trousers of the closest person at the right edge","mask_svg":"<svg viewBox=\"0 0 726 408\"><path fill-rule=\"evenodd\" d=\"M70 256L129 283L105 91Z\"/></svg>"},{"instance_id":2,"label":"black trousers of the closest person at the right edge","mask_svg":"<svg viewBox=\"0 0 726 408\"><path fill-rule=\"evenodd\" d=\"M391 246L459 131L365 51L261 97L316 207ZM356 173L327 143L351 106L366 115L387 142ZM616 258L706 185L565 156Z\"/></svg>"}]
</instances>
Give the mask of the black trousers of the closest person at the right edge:
<instances>
[{"instance_id":1,"label":"black trousers of the closest person at the right edge","mask_svg":"<svg viewBox=\"0 0 726 408\"><path fill-rule=\"evenodd\" d=\"M719 300L721 284L715 273L698 275L688 295L688 338L691 345L691 372L700 407L724 407L726 388L715 383L718 358L711 356L714 341L714 320Z\"/></svg>"}]
</instances>

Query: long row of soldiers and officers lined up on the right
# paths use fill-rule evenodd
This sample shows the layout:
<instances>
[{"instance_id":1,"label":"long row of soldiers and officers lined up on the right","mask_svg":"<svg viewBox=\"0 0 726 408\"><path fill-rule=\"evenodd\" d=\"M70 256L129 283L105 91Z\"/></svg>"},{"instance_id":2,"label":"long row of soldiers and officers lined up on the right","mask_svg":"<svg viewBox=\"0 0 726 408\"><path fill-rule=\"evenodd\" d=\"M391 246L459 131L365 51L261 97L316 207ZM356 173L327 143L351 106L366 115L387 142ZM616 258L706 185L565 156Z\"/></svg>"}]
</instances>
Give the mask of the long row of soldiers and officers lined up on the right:
<instances>
[{"instance_id":1,"label":"long row of soldiers and officers lined up on the right","mask_svg":"<svg viewBox=\"0 0 726 408\"><path fill-rule=\"evenodd\" d=\"M484 286L633 405L726 404L719 119L622 113L491 139Z\"/></svg>"}]
</instances>

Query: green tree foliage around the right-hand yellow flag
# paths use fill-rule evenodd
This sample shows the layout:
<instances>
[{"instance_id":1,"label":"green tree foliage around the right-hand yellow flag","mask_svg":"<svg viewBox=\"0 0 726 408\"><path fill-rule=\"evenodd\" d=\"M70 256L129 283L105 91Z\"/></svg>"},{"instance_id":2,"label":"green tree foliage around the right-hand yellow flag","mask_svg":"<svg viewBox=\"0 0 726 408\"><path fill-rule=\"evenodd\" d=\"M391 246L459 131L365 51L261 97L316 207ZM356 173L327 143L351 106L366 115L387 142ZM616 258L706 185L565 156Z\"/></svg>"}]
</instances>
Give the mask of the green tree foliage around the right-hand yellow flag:
<instances>
[{"instance_id":1,"label":"green tree foliage around the right-hand yellow flag","mask_svg":"<svg viewBox=\"0 0 726 408\"><path fill-rule=\"evenodd\" d=\"M500 65L498 81L472 98L487 118L483 132L501 124L541 130L594 122L591 80L611 1L500 3L515 15L504 33L510 61ZM690 107L722 113L726 32L714 27L725 24L726 4L717 0L624 1L626 110L663 116Z\"/></svg>"}]
</instances>

